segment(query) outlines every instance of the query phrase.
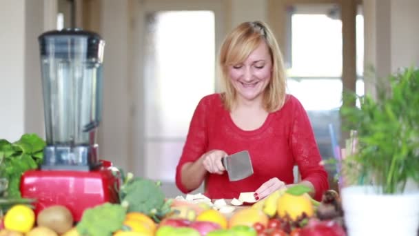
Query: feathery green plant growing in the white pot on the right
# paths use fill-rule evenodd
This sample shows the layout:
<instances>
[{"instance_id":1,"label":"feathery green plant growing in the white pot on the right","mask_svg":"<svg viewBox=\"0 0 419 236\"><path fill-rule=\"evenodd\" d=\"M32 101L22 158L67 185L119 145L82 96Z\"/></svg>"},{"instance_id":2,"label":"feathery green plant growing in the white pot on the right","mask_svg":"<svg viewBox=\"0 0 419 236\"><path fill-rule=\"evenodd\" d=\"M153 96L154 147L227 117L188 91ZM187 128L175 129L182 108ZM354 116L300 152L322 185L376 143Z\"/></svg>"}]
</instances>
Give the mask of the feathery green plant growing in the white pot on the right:
<instances>
[{"instance_id":1,"label":"feathery green plant growing in the white pot on the right","mask_svg":"<svg viewBox=\"0 0 419 236\"><path fill-rule=\"evenodd\" d=\"M401 193L408 179L419 184L419 69L390 75L377 97L358 97L360 108L343 106L349 130L356 130L358 146L343 168L352 184L374 184L382 193ZM353 99L356 95L351 94Z\"/></svg>"}]
</instances>

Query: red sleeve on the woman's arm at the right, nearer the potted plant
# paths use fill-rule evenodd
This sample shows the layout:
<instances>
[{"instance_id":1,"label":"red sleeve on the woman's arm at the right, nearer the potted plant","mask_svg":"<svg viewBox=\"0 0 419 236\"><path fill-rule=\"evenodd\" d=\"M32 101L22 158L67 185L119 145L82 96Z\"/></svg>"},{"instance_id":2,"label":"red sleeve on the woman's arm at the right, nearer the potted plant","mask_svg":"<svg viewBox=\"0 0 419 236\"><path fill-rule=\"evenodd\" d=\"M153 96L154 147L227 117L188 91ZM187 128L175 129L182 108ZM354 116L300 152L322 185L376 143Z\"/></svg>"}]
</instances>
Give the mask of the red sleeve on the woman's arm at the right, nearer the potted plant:
<instances>
[{"instance_id":1,"label":"red sleeve on the woman's arm at the right, nearer the potted plant","mask_svg":"<svg viewBox=\"0 0 419 236\"><path fill-rule=\"evenodd\" d=\"M294 120L292 121L291 128L291 139L289 141L291 142L292 153L298 165L302 180L309 181L313 184L316 190L314 199L320 201L325 190L329 188L327 172L320 165L322 159L307 112L300 102L298 100L296 101Z\"/></svg>"}]
</instances>

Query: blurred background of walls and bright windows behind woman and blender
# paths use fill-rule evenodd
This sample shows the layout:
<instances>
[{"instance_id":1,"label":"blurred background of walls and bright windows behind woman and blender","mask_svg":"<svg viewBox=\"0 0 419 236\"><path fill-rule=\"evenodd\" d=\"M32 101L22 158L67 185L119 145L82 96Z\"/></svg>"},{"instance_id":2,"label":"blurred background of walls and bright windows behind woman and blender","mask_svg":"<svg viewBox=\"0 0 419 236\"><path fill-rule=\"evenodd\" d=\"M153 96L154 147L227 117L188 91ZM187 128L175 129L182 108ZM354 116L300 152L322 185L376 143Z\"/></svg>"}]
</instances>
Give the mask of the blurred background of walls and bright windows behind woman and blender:
<instances>
[{"instance_id":1,"label":"blurred background of walls and bright windows behind woman and blender","mask_svg":"<svg viewBox=\"0 0 419 236\"><path fill-rule=\"evenodd\" d=\"M288 92L309 113L323 159L334 158L331 134L337 144L347 137L339 108L357 106L343 91L374 95L380 78L418 66L418 10L418 0L3 0L0 139L45 137L37 37L92 30L106 43L101 159L180 195L176 164L196 104L218 91L223 37L262 20L283 50ZM336 188L336 170L328 171Z\"/></svg>"}]
</instances>

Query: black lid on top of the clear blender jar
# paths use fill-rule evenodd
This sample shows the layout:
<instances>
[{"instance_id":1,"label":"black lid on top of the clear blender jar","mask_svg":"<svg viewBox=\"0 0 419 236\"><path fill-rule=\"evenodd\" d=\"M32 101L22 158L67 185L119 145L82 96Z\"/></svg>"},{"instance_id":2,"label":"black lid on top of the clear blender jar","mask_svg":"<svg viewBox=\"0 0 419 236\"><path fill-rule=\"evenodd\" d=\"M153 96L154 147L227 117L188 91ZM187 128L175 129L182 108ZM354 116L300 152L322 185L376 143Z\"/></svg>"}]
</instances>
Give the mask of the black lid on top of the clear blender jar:
<instances>
[{"instance_id":1,"label":"black lid on top of the clear blender jar","mask_svg":"<svg viewBox=\"0 0 419 236\"><path fill-rule=\"evenodd\" d=\"M63 28L63 30L50 30L38 37L41 57L53 56L67 58L74 52L85 50L88 59L103 59L105 41L96 32L81 28ZM78 47L83 43L85 46ZM87 49L87 50L86 50Z\"/></svg>"}]
</instances>

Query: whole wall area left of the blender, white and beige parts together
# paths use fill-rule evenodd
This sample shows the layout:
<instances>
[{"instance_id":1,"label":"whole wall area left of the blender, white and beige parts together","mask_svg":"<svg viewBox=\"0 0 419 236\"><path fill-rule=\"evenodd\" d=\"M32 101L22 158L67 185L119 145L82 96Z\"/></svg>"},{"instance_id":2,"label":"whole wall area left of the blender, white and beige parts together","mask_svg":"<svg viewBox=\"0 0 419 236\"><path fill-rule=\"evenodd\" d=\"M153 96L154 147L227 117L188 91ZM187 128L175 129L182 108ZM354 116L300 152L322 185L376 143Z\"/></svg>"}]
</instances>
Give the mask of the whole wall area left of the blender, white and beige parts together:
<instances>
[{"instance_id":1,"label":"whole wall area left of the blender, white and beige parts together","mask_svg":"<svg viewBox=\"0 0 419 236\"><path fill-rule=\"evenodd\" d=\"M55 27L55 0L0 3L0 139L44 135L37 37Z\"/></svg>"}]
</instances>

